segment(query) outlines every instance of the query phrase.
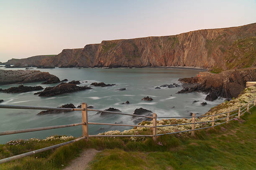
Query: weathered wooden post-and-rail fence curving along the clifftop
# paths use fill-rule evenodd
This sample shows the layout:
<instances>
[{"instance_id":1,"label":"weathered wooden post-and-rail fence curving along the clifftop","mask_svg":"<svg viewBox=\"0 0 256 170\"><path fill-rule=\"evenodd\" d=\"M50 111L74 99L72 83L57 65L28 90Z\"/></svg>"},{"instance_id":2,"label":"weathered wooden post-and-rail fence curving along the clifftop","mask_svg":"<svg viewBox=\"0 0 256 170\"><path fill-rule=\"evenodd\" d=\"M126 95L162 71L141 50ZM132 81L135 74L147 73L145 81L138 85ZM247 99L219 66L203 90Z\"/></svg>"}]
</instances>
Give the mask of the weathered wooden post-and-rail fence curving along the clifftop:
<instances>
[{"instance_id":1,"label":"weathered wooden post-and-rail fence curving along the clifftop","mask_svg":"<svg viewBox=\"0 0 256 170\"><path fill-rule=\"evenodd\" d=\"M253 102L254 101L254 102ZM70 143L77 142L79 140L85 139L89 140L91 137L152 137L154 141L156 141L156 137L159 135L168 135L168 134L174 134L174 133L184 133L184 132L190 132L191 135L195 135L195 130L200 130L200 129L206 129L206 128L214 128L215 126L221 125L223 123L228 123L231 120L234 120L236 118L240 118L241 115L243 115L245 112L248 112L249 109L253 106L256 105L256 99L251 100L250 102L246 103L246 105L243 105L242 107L239 107L236 110L230 110L228 112L216 114L216 115L205 115L205 116L198 116L198 117L212 117L212 120L210 121L205 121L205 122L195 122L195 113L192 114L192 116L185 116L185 117L157 117L156 113L154 113L152 116L144 116L144 115L134 115L134 114L127 114L127 113L122 113L122 112L110 112L110 111L105 111L105 110L95 110L95 109L88 109L86 103L82 103L82 108L60 108L60 107L36 107L36 106L22 106L22 105L0 105L0 108L11 108L11 109L33 109L33 110L62 110L62 111L75 111L75 110L81 110L82 111L82 122L80 123L75 123L75 124L69 124L69 125L56 125L56 126L48 126L48 127L41 127L41 128L30 128L30 129L20 129L20 130L9 130L9 131L3 131L0 132L0 135L10 135L10 134L17 134L17 133L26 133L26 132L34 132L34 131L40 131L40 130L49 130L49 129L56 129L56 128L67 128L67 127L72 127L72 126L79 126L82 125L82 137L77 138L75 140L70 140L68 142L60 143L57 145L53 145L50 147L34 150L28 153L23 153L20 155L15 155L9 158L5 158L0 160L0 164L6 163L11 160L16 160L19 158L23 158L29 155L33 155L36 153L44 152L46 150L58 148L63 145L67 145ZM243 108L244 107L244 108ZM99 123L99 122L88 122L88 111L93 111L93 112L105 112L105 113L110 113L110 114L118 114L118 115L128 115L128 116L137 116L137 117L146 117L146 118L151 118L153 120L153 126L145 126L145 125L124 125L124 124L116 124L116 123ZM230 115L230 112L236 112L232 115ZM226 117L221 117L219 119L215 119L215 116L217 115L223 115L227 114ZM237 116L235 116L237 115ZM233 117L235 116L235 117ZM230 119L230 117L233 117ZM156 119L161 119L161 118L192 118L191 123L183 123L183 124L174 124L174 125L156 125ZM215 122L218 120L226 119L225 122L221 122L219 124L215 125ZM197 128L195 129L195 125L198 123L207 123L211 122L211 126L203 127L203 128ZM88 125L111 125L111 126L130 126L130 127L145 127L145 128L152 128L152 135L89 135L89 129ZM184 130L184 131L178 131L178 132L172 132L172 133L162 133L162 134L156 134L156 128L158 127L165 127L165 126L180 126L180 125L192 125L191 130Z\"/></svg>"}]
</instances>

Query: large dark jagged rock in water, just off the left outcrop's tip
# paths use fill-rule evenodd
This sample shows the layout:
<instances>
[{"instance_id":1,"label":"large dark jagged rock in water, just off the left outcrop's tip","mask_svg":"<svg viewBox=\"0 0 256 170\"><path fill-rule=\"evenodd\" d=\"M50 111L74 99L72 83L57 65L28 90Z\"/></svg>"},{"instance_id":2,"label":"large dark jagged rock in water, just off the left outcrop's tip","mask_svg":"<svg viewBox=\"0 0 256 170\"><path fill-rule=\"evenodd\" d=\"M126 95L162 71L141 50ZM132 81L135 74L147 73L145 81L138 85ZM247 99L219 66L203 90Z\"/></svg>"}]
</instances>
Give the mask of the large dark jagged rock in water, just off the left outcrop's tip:
<instances>
[{"instance_id":1,"label":"large dark jagged rock in water, just off the left outcrop's tip","mask_svg":"<svg viewBox=\"0 0 256 170\"><path fill-rule=\"evenodd\" d=\"M86 87L86 86L77 86L74 84L69 84L69 83L61 83L55 87L46 87L44 91L42 92L37 92L34 95L42 96L42 97L49 97L49 96L54 96L54 95L60 95L64 93L69 93L69 92L76 92L79 90L87 90L87 89L92 89L91 87Z\"/></svg>"}]
</instances>

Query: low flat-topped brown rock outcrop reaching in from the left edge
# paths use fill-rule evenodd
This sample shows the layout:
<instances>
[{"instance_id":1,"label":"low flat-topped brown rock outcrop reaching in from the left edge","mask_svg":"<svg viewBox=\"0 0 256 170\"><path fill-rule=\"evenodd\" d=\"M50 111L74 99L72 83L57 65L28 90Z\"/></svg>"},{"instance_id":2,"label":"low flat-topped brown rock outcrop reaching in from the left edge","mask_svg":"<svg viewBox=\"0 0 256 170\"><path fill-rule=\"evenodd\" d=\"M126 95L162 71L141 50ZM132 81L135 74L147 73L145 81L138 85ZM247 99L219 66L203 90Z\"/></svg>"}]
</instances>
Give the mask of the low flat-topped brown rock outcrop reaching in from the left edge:
<instances>
[{"instance_id":1,"label":"low flat-topped brown rock outcrop reaching in from the left edge","mask_svg":"<svg viewBox=\"0 0 256 170\"><path fill-rule=\"evenodd\" d=\"M38 70L0 70L0 85L27 82L42 82L59 79L49 72Z\"/></svg>"}]
</instances>

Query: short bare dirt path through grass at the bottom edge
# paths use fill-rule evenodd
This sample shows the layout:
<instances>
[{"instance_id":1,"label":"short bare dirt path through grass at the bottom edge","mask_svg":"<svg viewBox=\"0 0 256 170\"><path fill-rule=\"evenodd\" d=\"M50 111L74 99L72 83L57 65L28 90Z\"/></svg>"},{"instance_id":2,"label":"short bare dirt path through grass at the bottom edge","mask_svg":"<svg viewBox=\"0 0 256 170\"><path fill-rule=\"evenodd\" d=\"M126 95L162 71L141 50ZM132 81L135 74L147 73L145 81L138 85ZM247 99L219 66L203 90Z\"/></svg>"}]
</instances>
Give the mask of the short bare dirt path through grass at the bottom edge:
<instances>
[{"instance_id":1,"label":"short bare dirt path through grass at the bottom edge","mask_svg":"<svg viewBox=\"0 0 256 170\"><path fill-rule=\"evenodd\" d=\"M89 166L88 163L98 152L100 151L93 148L84 150L79 157L72 160L71 164L63 170L85 170Z\"/></svg>"}]
</instances>

